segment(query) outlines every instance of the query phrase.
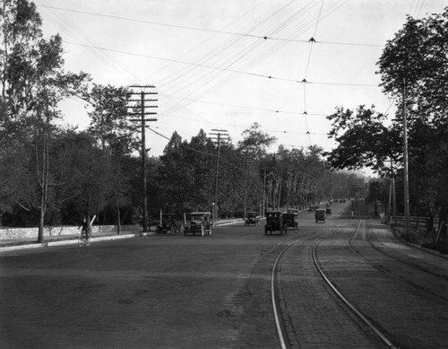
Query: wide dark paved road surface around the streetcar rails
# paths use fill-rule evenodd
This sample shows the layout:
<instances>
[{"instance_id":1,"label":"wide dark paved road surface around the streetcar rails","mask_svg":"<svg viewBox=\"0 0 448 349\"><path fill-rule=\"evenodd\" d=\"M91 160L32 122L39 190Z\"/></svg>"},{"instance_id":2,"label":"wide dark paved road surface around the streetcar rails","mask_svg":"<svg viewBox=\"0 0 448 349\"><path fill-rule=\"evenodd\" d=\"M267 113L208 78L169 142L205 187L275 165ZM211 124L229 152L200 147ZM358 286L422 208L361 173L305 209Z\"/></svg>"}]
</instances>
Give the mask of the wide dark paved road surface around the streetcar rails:
<instances>
[{"instance_id":1,"label":"wide dark paved road surface around the streetcar rails","mask_svg":"<svg viewBox=\"0 0 448 349\"><path fill-rule=\"evenodd\" d=\"M337 213L341 208L334 206L325 224L316 224L312 214L302 213L299 230L289 230L288 235L266 236L262 227L238 222L204 237L157 235L94 241L89 248L63 245L4 252L0 255L0 347L280 347L271 304L271 271L280 251L297 240L297 250L289 250L281 262L281 321L292 324L287 329L289 345L328 347L320 341L312 317L297 319L294 307L310 314L313 304L333 297L322 285L317 293L300 286L306 281L319 283L314 272L305 268L305 251L317 240L320 229L340 225ZM337 259L335 254L342 253L328 246L346 244L347 226L338 231L340 235L325 240L319 248L328 270L332 264L325 256ZM376 231L375 240L380 237ZM391 241L386 243L392 246ZM306 275L308 272L313 275ZM347 277L340 280L347 281ZM357 290L348 285L343 284L347 292L356 295ZM402 286L402 290L409 287ZM400 295L390 294L394 296ZM375 294L371 292L369 297L375 304ZM400 317L401 311L397 307L395 315ZM326 325L330 332L341 332L339 310L324 317L331 320ZM446 320L443 315L432 324L439 334L435 344L444 339ZM349 337L366 337L366 344L378 346L355 319L346 315L343 321L351 329L337 346L343 347ZM314 339L302 336L306 326ZM395 324L395 331L405 331L405 327L405 322ZM299 335L291 335L294 332ZM405 339L412 347L409 338Z\"/></svg>"}]
</instances>

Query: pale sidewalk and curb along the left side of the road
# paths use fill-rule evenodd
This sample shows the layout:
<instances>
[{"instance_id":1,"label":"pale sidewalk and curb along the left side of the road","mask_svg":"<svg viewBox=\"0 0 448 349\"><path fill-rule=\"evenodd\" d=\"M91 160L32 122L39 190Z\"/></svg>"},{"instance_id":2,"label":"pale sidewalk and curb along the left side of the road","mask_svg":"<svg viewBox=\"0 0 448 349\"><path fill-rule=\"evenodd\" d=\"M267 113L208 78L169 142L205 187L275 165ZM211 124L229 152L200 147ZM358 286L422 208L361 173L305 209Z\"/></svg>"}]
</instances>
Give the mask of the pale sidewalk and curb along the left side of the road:
<instances>
[{"instance_id":1,"label":"pale sidewalk and curb along the left side of the road","mask_svg":"<svg viewBox=\"0 0 448 349\"><path fill-rule=\"evenodd\" d=\"M235 222L243 222L242 219L223 219L220 222L216 222L215 226L232 224ZM135 237L146 237L156 235L156 226L151 226L150 231L121 231L118 235L116 231L102 231L95 232L91 235L90 241L105 241L105 240L120 240L131 239ZM70 245L78 243L79 234L71 235L53 235L46 236L43 243L37 242L36 238L24 238L17 240L0 240L0 253L6 251L13 251L17 249L39 249L58 245Z\"/></svg>"}]
</instances>

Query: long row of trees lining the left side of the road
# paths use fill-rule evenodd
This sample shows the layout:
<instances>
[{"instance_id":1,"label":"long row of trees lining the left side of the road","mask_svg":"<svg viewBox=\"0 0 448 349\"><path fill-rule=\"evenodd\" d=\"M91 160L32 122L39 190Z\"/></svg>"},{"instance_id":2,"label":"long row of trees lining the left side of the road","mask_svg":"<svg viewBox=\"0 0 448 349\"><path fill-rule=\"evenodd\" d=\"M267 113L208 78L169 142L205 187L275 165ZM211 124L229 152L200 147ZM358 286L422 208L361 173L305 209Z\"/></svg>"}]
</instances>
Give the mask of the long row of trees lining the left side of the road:
<instances>
[{"instance_id":1,"label":"long row of trees lining the left side of the road","mask_svg":"<svg viewBox=\"0 0 448 349\"><path fill-rule=\"evenodd\" d=\"M135 222L142 215L142 146L128 117L131 91L65 72L62 39L43 38L36 5L0 4L2 224L38 225L42 241L44 225L76 224L82 215ZM88 129L58 126L59 103L69 96L89 104ZM275 139L260 125L243 136L219 144L218 154L202 130L190 141L175 132L164 154L148 159L150 214L211 210L214 203L221 215L235 215L347 194L349 175L326 170L319 147L269 154Z\"/></svg>"}]
</instances>

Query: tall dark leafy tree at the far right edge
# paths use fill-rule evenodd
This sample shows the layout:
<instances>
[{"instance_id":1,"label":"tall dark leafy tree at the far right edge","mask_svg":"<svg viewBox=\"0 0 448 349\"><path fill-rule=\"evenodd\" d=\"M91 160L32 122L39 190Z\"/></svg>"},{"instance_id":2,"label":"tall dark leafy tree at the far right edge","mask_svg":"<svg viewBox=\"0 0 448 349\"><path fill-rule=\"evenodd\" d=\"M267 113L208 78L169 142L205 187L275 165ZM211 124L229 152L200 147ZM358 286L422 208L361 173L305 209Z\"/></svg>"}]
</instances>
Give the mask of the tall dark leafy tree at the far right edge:
<instances>
[{"instance_id":1,"label":"tall dark leafy tree at the far right edge","mask_svg":"<svg viewBox=\"0 0 448 349\"><path fill-rule=\"evenodd\" d=\"M398 98L399 115L406 101L411 205L431 216L446 215L448 153L448 7L423 19L408 17L387 42L378 61L383 90ZM401 128L400 126L397 126Z\"/></svg>"}]
</instances>

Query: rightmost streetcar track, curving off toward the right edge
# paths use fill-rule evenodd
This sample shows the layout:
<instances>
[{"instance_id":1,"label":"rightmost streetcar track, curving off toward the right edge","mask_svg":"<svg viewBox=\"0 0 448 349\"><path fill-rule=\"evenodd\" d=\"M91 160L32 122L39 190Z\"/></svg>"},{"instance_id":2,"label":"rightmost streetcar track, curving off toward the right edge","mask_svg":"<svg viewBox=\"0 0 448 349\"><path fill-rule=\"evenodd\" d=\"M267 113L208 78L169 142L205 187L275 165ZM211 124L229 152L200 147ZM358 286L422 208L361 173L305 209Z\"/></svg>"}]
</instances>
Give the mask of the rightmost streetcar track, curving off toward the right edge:
<instances>
[{"instance_id":1,"label":"rightmost streetcar track, curving off toward the right edge","mask_svg":"<svg viewBox=\"0 0 448 349\"><path fill-rule=\"evenodd\" d=\"M396 278L398 278L399 280L401 280L401 281L403 281L403 282L405 282L405 283L407 283L407 284L410 284L411 286L413 286L414 288L416 288L416 289L418 289L418 290L420 290L420 291L427 292L427 293L429 293L429 294L431 294L431 295L433 295L433 296L435 296L435 297L437 297L437 298L439 298L439 299L442 299L442 300L444 300L444 301L448 300L446 297L444 297L444 296L442 296L442 295L440 295L440 294L438 294L438 293L432 292L431 290L428 290L426 287L421 286L421 285L419 285L419 284L416 284L416 283L414 283L413 281L409 280L409 279L406 278L406 277L403 277L403 276L401 276L401 275L397 275L396 273L393 273L391 270L385 268L384 266L380 265L379 263L375 262L374 260L370 259L369 257L366 257L365 254L363 254L359 249L357 249L356 246L354 246L354 244L352 243L352 242L353 242L353 238L354 238L355 235L358 233L359 226L362 225L362 226L364 227L364 224L365 224L364 221L358 221L357 228L355 229L355 231L353 231L353 233L352 233L352 234L350 235L350 237L349 237L349 248L350 248L350 249L351 249L351 250L352 250L358 257L361 257L361 258L363 258L364 260L366 260L366 262L367 262L368 264L370 264L371 266L374 266L377 270L380 270L380 271L382 271L382 272L385 273L385 274L392 275L393 277L396 277ZM372 243L372 241L368 238L368 231L367 231L367 230L366 230L366 240L368 241L370 247L372 247L373 249L375 249L375 250L378 251L378 252L383 253L383 255L385 255L385 256L387 256L387 257L390 257L390 258L392 258L392 259L394 259L394 260L397 260L397 261L399 261L399 262L401 262L401 263L403 263L403 264L405 264L405 265L407 265L407 266L412 266L412 267L417 268L418 270L426 271L426 270L424 270L423 268L420 268L420 267L414 265L413 263L407 263L405 260L402 260L402 259L399 258L399 257L393 257L393 256L391 256L391 255L389 255L389 254L383 252L381 249L377 249L377 248L375 247L375 245ZM435 274L435 273L428 273L428 274L431 274L431 275L435 275L435 276L441 277L441 275L437 275L437 274ZM444 278L444 277L443 277L443 278Z\"/></svg>"}]
</instances>

